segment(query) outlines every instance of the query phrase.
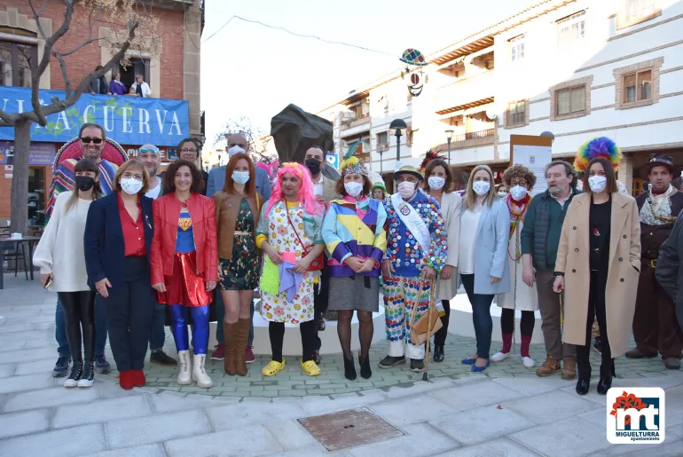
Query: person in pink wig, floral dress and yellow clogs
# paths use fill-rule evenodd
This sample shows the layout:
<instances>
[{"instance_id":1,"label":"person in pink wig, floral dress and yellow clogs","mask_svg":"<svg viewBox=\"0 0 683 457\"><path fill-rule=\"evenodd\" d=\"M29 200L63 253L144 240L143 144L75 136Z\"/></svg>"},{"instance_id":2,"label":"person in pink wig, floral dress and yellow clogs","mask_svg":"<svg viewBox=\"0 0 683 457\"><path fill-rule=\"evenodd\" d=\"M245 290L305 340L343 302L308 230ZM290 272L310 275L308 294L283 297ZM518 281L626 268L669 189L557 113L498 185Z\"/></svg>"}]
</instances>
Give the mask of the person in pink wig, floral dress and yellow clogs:
<instances>
[{"instance_id":1,"label":"person in pink wig, floral dress and yellow clogs","mask_svg":"<svg viewBox=\"0 0 683 457\"><path fill-rule=\"evenodd\" d=\"M256 227L256 246L266 254L259 312L270 322L272 351L272 360L262 371L264 376L278 374L285 367L282 357L285 324L299 325L302 370L310 376L320 374L311 354L316 339L313 284L323 266L324 216L308 169L299 163L284 163L278 170L271 200L263 206Z\"/></svg>"}]
</instances>

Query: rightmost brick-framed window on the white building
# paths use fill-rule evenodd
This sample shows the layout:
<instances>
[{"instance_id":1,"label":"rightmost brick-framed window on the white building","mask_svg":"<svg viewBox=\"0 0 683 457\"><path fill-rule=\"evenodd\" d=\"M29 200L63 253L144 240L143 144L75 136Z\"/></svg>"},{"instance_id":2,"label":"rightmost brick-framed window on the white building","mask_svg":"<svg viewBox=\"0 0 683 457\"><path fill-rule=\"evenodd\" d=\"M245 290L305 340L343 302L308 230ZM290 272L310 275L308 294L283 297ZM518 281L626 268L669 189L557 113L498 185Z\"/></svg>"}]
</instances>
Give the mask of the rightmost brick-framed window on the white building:
<instances>
[{"instance_id":1,"label":"rightmost brick-framed window on the white building","mask_svg":"<svg viewBox=\"0 0 683 457\"><path fill-rule=\"evenodd\" d=\"M616 107L632 108L659 102L659 68L663 58L616 68Z\"/></svg>"}]
</instances>

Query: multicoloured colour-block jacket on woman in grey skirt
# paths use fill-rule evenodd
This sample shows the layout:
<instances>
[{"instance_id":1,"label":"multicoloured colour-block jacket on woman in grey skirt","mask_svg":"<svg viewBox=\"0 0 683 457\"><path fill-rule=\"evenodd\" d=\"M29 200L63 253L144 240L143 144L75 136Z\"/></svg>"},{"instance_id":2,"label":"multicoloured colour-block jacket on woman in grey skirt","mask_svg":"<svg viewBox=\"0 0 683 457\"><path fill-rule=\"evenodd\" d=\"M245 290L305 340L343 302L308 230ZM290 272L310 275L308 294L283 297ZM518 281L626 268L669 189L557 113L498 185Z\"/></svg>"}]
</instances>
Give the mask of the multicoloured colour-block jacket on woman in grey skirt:
<instances>
[{"instance_id":1,"label":"multicoloured colour-block jacket on woman in grey skirt","mask_svg":"<svg viewBox=\"0 0 683 457\"><path fill-rule=\"evenodd\" d=\"M331 201L322 234L329 257L330 277L356 276L357 273L343 263L349 256L373 258L375 268L362 275L380 275L381 259L387 248L387 212L381 201L365 198L356 202L350 197Z\"/></svg>"}]
</instances>

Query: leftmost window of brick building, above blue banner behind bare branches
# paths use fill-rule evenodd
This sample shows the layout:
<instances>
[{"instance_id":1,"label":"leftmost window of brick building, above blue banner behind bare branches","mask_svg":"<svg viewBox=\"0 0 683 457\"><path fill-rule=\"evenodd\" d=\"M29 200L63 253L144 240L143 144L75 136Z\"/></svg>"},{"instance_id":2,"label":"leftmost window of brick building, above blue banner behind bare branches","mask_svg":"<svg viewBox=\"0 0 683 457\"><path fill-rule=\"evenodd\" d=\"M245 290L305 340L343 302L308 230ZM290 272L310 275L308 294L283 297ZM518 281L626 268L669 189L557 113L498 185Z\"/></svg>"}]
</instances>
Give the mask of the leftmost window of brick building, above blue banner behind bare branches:
<instances>
[{"instance_id":1,"label":"leftmost window of brick building, above blue banner behind bare branches","mask_svg":"<svg viewBox=\"0 0 683 457\"><path fill-rule=\"evenodd\" d=\"M5 30L7 29L0 29L2 32ZM38 61L38 40L30 32L9 30L13 32L12 35L16 35L17 41L0 42L0 85L31 87L31 76ZM12 38L11 36L10 40ZM30 43L34 40L35 43Z\"/></svg>"}]
</instances>

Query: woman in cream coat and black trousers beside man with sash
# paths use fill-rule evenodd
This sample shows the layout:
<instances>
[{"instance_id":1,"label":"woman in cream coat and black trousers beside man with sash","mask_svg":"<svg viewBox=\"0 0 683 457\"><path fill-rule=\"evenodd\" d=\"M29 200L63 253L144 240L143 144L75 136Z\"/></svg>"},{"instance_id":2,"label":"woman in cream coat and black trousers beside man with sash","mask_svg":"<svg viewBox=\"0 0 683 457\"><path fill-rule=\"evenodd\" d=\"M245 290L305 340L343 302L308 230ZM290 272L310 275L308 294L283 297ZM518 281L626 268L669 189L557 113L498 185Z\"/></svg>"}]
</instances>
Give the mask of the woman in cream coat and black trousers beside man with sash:
<instances>
[{"instance_id":1,"label":"woman in cream coat and black trousers beside man with sash","mask_svg":"<svg viewBox=\"0 0 683 457\"><path fill-rule=\"evenodd\" d=\"M448 322L451 317L451 299L458 290L458 249L462 198L458 193L452 192L453 174L443 158L429 152L422 162L421 168L424 170L424 177L427 177L424 185L425 192L434 197L441 207L448 242L446 265L441 270L439 280L436 283L436 297L444 305L445 314L441 317L443 327L434 334L434 361L443 362Z\"/></svg>"}]
</instances>

